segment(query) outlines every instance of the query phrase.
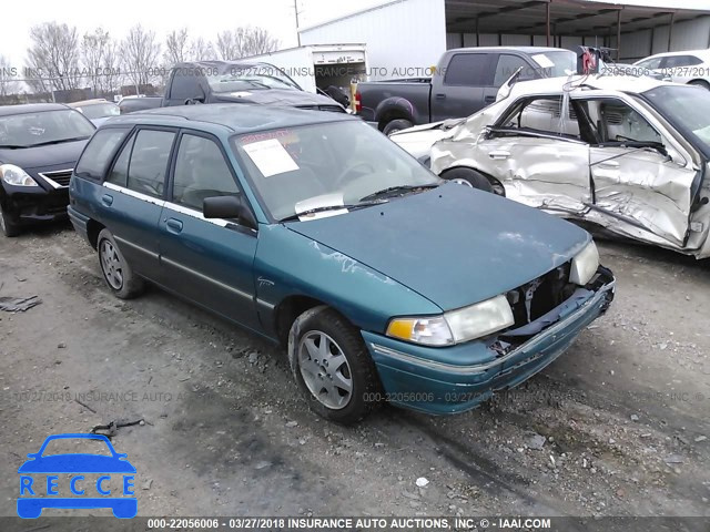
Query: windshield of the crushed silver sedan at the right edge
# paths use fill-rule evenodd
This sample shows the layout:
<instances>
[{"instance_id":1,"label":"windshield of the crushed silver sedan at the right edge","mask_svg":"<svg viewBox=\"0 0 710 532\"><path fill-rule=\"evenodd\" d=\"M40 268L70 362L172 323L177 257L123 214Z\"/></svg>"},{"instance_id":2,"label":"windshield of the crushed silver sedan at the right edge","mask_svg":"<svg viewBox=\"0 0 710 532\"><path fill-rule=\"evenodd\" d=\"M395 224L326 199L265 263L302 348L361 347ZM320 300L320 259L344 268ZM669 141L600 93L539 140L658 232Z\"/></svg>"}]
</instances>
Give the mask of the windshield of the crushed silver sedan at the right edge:
<instances>
[{"instance_id":1,"label":"windshield of the crushed silver sedan at the right edge","mask_svg":"<svg viewBox=\"0 0 710 532\"><path fill-rule=\"evenodd\" d=\"M643 95L683 135L694 137L706 154L710 152L710 91L701 86L661 85Z\"/></svg>"}]
</instances>

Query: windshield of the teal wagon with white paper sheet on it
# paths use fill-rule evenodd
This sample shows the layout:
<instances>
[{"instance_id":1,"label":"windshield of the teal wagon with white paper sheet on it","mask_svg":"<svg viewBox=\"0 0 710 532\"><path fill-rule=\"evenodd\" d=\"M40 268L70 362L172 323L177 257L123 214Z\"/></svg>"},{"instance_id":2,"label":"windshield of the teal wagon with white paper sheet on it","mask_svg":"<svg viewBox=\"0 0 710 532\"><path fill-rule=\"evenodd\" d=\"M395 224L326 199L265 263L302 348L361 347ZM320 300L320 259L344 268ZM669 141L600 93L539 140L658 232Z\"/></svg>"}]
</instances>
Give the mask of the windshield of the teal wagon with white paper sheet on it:
<instances>
[{"instance_id":1,"label":"windshield of the teal wagon with white paper sheet on it","mask_svg":"<svg viewBox=\"0 0 710 532\"><path fill-rule=\"evenodd\" d=\"M419 162L362 121L240 135L233 137L232 145L275 219L308 209L354 205L390 187L439 183ZM376 201L386 202L393 195L394 191Z\"/></svg>"}]
</instances>

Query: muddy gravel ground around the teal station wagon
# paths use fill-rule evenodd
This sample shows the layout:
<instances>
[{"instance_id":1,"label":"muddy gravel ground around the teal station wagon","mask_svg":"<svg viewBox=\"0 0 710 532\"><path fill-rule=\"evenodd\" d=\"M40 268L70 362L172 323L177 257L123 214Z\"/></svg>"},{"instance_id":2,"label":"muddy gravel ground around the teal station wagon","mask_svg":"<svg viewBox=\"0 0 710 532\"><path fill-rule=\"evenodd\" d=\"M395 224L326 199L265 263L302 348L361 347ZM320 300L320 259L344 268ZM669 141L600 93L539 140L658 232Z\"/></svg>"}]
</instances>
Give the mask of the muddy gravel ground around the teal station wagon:
<instances>
[{"instance_id":1,"label":"muddy gravel ground around the teal station wagon","mask_svg":"<svg viewBox=\"0 0 710 532\"><path fill-rule=\"evenodd\" d=\"M600 250L611 309L521 388L343 428L273 346L158 289L115 299L69 226L0 238L0 296L42 299L0 313L0 515L47 436L118 420L139 515L708 516L710 264Z\"/></svg>"}]
</instances>

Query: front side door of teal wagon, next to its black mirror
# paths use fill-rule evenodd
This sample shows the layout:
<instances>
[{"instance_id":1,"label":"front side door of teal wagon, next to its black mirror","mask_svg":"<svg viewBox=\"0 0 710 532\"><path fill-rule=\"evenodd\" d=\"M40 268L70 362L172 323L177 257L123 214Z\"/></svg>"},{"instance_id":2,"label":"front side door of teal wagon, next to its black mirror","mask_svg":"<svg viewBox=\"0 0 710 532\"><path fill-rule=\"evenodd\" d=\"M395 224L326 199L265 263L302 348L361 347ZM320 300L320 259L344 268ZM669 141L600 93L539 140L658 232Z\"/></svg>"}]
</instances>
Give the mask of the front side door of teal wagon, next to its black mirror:
<instances>
[{"instance_id":1,"label":"front side door of teal wagon, next to its black mirror","mask_svg":"<svg viewBox=\"0 0 710 532\"><path fill-rule=\"evenodd\" d=\"M197 132L179 140L171 194L160 219L161 284L246 327L257 328L256 231L207 219L206 197L241 194L221 143Z\"/></svg>"}]
</instances>

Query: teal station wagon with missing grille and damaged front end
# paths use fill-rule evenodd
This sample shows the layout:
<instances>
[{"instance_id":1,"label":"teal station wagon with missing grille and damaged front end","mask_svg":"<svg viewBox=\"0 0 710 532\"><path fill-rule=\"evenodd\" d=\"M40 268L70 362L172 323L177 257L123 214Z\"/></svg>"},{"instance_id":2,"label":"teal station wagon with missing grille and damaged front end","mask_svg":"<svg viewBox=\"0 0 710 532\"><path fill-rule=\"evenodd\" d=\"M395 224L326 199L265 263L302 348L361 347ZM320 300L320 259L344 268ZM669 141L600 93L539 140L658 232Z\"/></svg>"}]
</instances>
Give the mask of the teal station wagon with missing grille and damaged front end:
<instances>
[{"instance_id":1,"label":"teal station wagon with missing grille and damaged front end","mask_svg":"<svg viewBox=\"0 0 710 532\"><path fill-rule=\"evenodd\" d=\"M121 298L148 280L287 347L313 410L468 410L545 368L613 277L584 229L445 183L358 119L247 105L120 116L69 215Z\"/></svg>"}]
</instances>

